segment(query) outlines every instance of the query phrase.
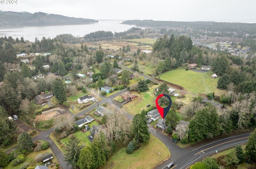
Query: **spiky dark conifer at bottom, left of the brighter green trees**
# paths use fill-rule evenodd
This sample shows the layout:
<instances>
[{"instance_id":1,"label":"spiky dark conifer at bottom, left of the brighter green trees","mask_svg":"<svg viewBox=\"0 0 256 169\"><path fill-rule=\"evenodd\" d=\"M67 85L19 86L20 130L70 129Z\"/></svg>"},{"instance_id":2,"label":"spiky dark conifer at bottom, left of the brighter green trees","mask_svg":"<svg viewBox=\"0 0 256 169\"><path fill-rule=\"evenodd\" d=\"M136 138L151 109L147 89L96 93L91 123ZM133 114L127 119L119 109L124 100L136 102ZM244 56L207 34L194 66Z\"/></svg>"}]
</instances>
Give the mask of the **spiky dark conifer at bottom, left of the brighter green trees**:
<instances>
[{"instance_id":1,"label":"spiky dark conifer at bottom, left of the brighter green trees","mask_svg":"<svg viewBox=\"0 0 256 169\"><path fill-rule=\"evenodd\" d=\"M68 162L68 164L71 164L74 169L76 169L76 163L79 159L80 151L84 147L83 145L79 145L80 141L74 136L71 135L70 140L68 141L65 150L65 161Z\"/></svg>"}]
</instances>

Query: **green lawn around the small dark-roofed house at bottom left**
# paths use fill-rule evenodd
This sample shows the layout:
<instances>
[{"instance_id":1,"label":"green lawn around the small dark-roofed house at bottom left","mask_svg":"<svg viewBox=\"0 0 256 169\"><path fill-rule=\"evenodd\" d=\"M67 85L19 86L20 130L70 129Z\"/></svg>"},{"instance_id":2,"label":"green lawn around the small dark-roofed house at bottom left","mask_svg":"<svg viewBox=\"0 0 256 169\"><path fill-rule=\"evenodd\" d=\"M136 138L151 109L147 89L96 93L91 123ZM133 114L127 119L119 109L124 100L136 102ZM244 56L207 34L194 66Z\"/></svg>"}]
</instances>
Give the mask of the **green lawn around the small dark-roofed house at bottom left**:
<instances>
[{"instance_id":1,"label":"green lawn around the small dark-roofed house at bottom left","mask_svg":"<svg viewBox=\"0 0 256 169\"><path fill-rule=\"evenodd\" d=\"M40 150L40 151L34 151L28 155L26 155L25 157L25 161L23 161L22 163L20 163L19 165L16 166L12 166L11 162L8 163L8 165L6 165L5 167L3 167L3 169L20 169L20 166L24 163L24 162L28 162L30 166L35 165L36 161L34 161L34 158L36 157L36 155L38 154L44 154L44 153L52 153L52 150L50 148L46 149L46 150ZM54 157L54 159L52 159L53 163L56 162L56 157ZM50 168L49 168L50 169Z\"/></svg>"}]
</instances>

